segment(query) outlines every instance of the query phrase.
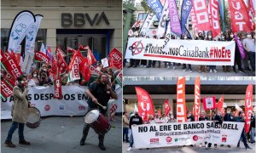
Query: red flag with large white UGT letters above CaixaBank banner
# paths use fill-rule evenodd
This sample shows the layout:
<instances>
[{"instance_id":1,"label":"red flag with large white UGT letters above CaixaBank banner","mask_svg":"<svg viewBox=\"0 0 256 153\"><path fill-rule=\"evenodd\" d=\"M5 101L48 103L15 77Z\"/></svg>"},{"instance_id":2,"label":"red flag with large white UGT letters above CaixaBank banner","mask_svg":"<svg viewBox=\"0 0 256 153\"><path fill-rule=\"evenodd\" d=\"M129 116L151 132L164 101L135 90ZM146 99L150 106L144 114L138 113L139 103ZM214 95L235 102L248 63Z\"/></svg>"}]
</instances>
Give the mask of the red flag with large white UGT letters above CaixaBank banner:
<instances>
[{"instance_id":1,"label":"red flag with large white UGT letters above CaixaBank banner","mask_svg":"<svg viewBox=\"0 0 256 153\"><path fill-rule=\"evenodd\" d=\"M233 32L252 31L247 6L243 0L229 0L230 20Z\"/></svg>"}]
</instances>

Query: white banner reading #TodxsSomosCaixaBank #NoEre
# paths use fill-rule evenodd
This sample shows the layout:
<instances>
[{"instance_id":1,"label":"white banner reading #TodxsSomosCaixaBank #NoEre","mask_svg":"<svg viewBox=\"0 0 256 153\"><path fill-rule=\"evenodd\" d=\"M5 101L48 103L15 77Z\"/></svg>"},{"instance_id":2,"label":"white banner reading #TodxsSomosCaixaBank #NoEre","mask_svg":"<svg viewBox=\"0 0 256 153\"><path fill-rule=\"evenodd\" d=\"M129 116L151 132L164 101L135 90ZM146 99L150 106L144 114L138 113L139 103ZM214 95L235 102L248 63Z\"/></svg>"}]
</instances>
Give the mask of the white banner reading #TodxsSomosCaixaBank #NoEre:
<instances>
[{"instance_id":1,"label":"white banner reading #TodxsSomosCaixaBank #NoEre","mask_svg":"<svg viewBox=\"0 0 256 153\"><path fill-rule=\"evenodd\" d=\"M163 46L165 45L165 48ZM152 59L192 65L234 65L235 41L129 38L125 59Z\"/></svg>"}]
</instances>

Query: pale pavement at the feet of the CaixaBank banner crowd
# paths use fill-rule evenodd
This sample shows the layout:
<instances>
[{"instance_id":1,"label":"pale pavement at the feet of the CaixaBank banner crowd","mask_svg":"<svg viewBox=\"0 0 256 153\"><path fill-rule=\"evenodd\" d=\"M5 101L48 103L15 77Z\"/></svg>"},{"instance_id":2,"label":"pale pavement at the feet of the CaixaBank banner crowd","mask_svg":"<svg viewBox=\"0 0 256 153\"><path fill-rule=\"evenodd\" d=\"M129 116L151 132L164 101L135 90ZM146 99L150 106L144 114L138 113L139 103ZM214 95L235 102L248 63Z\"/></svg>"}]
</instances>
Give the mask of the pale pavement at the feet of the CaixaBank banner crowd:
<instances>
[{"instance_id":1,"label":"pale pavement at the feet of the CaixaBank banner crowd","mask_svg":"<svg viewBox=\"0 0 256 153\"><path fill-rule=\"evenodd\" d=\"M156 64L158 65L158 64ZM206 72L197 72L198 65L192 65L192 72L189 71L183 71L182 70L182 65L176 66L176 69L172 69L172 65L170 69L166 69L164 67L164 63L161 62L161 67L160 68L145 68L145 67L137 67L137 68L127 68L129 66L129 63L126 63L124 67L124 76L125 77L182 77L182 76L188 76L188 77L218 77L218 76L224 76L224 77L248 77L248 76L253 76L253 73L247 72L241 73L237 70L237 73L233 72L233 69L231 68L230 72L223 72L222 66L217 66L217 73L206 73ZM188 66L188 65L187 65Z\"/></svg>"}]
</instances>

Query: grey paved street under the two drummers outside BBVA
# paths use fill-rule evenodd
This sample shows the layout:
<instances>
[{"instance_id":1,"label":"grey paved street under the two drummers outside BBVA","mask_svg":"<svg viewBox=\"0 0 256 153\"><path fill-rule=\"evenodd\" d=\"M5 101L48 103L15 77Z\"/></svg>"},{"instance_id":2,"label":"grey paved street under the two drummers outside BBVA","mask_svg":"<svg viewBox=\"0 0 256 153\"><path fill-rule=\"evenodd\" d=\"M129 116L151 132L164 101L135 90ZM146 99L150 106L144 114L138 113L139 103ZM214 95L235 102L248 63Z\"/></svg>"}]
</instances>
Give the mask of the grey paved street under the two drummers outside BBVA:
<instances>
[{"instance_id":1,"label":"grey paved street under the two drummers outside BBVA","mask_svg":"<svg viewBox=\"0 0 256 153\"><path fill-rule=\"evenodd\" d=\"M32 144L29 146L20 145L18 130L13 135L13 143L16 148L8 148L4 144L11 121L2 121L1 129L1 150L3 153L96 153L96 152L121 152L121 116L116 116L114 122L111 122L115 128L111 128L105 135L105 146L107 150L102 151L98 147L98 137L93 129L90 128L85 145L81 146L81 139L84 118L67 116L44 117L40 126L36 129L25 127L25 139Z\"/></svg>"}]
</instances>

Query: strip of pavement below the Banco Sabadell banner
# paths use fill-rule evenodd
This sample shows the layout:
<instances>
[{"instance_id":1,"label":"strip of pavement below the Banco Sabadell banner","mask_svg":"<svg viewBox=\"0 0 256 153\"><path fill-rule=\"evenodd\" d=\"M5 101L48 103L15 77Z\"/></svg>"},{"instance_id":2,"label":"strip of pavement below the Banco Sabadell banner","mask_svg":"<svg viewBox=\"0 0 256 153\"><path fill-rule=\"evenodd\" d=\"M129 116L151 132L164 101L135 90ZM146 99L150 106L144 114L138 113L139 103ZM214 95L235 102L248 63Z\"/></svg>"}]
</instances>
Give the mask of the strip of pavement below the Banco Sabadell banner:
<instances>
[{"instance_id":1,"label":"strip of pavement below the Banco Sabadell banner","mask_svg":"<svg viewBox=\"0 0 256 153\"><path fill-rule=\"evenodd\" d=\"M153 152L160 152L160 153L195 153L195 152L215 152L215 153L236 153L236 152L246 152L246 153L254 153L255 152L255 143L249 144L253 150L246 150L243 143L240 143L241 148L237 149L236 147L228 148L227 146L220 147L218 146L218 150L210 149L206 150L205 147L199 148L199 146L190 147L185 146L182 148L178 148L177 146L173 147L166 147L166 148L157 148L157 149L142 149L137 150L134 149L132 151L126 151L129 148L129 143L123 143L123 153L141 153L141 152L147 152L147 153L153 153Z\"/></svg>"}]
</instances>

